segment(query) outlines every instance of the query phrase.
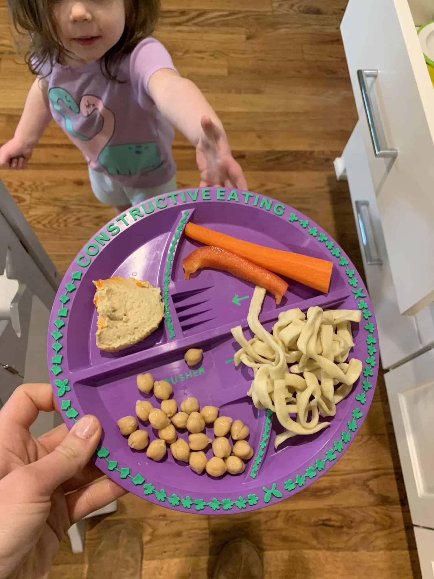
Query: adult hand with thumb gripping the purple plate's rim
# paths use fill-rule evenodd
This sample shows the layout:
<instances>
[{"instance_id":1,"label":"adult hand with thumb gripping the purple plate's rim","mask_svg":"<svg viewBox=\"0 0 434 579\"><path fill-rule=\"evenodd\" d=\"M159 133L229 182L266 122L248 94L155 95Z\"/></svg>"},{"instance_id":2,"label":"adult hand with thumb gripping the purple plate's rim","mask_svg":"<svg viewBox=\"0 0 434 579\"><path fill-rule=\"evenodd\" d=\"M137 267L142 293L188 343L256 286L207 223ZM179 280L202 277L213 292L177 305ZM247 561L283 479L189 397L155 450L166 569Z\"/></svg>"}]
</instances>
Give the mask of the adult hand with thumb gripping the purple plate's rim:
<instances>
[{"instance_id":1,"label":"adult hand with thumb gripping the purple plate's rim","mask_svg":"<svg viewBox=\"0 0 434 579\"><path fill-rule=\"evenodd\" d=\"M49 384L23 384L0 411L0 579L48 577L68 528L126 494L109 479L89 485L102 476L89 462L101 437L95 416L32 437L38 412L55 409Z\"/></svg>"}]
</instances>

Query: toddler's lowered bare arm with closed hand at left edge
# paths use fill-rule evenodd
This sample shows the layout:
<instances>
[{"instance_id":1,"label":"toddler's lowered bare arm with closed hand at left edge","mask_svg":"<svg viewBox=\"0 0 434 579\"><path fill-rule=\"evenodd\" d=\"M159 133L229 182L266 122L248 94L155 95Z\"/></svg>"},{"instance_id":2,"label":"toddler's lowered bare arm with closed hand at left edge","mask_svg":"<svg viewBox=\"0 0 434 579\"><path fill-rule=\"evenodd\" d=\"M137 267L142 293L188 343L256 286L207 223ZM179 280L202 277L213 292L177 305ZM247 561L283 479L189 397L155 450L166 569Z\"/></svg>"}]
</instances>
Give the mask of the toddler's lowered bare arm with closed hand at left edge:
<instances>
[{"instance_id":1,"label":"toddler's lowered bare arm with closed hand at left edge","mask_svg":"<svg viewBox=\"0 0 434 579\"><path fill-rule=\"evenodd\" d=\"M36 78L25 100L14 137L0 147L0 167L24 169L52 119L45 80Z\"/></svg>"}]
</instances>

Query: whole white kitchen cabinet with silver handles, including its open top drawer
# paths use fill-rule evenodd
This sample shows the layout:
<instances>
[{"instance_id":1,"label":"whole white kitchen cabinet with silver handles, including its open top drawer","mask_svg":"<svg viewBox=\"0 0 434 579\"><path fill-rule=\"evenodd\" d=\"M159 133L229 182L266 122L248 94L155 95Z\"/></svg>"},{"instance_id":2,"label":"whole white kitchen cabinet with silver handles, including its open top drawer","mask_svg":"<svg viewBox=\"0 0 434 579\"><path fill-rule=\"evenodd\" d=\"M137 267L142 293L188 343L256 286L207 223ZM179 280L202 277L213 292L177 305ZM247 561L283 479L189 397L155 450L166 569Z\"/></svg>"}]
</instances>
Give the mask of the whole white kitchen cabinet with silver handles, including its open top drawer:
<instances>
[{"instance_id":1,"label":"whole white kitchen cabinet with silver handles, including its open top drawer","mask_svg":"<svg viewBox=\"0 0 434 579\"><path fill-rule=\"evenodd\" d=\"M341 25L359 120L350 186L424 579L434 579L434 89L417 25L432 0L349 0Z\"/></svg>"}]
</instances>

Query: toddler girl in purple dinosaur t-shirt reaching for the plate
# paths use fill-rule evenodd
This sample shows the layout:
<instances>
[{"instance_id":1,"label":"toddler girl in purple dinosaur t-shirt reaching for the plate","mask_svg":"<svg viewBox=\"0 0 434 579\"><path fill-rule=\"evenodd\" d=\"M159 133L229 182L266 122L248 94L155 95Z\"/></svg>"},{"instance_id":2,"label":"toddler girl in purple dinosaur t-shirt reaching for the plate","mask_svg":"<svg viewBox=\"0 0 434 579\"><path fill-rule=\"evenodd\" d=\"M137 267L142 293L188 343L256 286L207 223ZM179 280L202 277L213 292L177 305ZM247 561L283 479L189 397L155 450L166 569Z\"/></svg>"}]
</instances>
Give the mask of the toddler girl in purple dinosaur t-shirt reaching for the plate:
<instances>
[{"instance_id":1,"label":"toddler girl in purple dinosaur t-shirt reaching for the plate","mask_svg":"<svg viewBox=\"0 0 434 579\"><path fill-rule=\"evenodd\" d=\"M172 125L196 147L200 186L246 189L225 130L152 33L160 0L9 0L37 75L0 166L23 169L54 118L88 163L95 196L123 211L176 189Z\"/></svg>"}]
</instances>

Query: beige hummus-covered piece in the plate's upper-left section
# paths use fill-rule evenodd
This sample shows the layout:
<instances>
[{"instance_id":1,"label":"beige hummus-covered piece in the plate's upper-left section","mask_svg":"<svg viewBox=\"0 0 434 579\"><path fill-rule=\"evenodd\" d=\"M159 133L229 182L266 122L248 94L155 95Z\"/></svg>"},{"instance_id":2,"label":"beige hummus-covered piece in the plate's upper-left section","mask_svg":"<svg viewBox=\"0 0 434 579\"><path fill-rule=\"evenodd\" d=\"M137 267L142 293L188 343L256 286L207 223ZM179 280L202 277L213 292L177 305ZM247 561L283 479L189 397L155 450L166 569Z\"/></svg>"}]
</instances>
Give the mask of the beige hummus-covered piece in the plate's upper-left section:
<instances>
[{"instance_id":1,"label":"beige hummus-covered piece in the plate's upper-left section","mask_svg":"<svg viewBox=\"0 0 434 579\"><path fill-rule=\"evenodd\" d=\"M149 281L111 277L94 281L98 312L97 346L105 352L124 350L152 334L164 317L160 288Z\"/></svg>"}]
</instances>

